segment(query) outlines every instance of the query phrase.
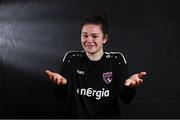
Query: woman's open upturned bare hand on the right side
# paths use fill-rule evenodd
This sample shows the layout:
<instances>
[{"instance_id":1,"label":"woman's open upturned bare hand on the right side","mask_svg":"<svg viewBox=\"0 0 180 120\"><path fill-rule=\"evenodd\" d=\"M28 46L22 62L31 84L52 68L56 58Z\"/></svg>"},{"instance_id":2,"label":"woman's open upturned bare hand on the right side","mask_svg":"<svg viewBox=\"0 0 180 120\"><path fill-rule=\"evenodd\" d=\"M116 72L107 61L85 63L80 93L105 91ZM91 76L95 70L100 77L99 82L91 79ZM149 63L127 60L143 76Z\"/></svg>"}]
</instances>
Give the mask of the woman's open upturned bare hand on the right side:
<instances>
[{"instance_id":1,"label":"woman's open upturned bare hand on the right side","mask_svg":"<svg viewBox=\"0 0 180 120\"><path fill-rule=\"evenodd\" d=\"M142 77L145 75L146 75L146 72L140 72L140 73L134 74L125 81L125 85L129 87L137 87L143 83Z\"/></svg>"}]
</instances>

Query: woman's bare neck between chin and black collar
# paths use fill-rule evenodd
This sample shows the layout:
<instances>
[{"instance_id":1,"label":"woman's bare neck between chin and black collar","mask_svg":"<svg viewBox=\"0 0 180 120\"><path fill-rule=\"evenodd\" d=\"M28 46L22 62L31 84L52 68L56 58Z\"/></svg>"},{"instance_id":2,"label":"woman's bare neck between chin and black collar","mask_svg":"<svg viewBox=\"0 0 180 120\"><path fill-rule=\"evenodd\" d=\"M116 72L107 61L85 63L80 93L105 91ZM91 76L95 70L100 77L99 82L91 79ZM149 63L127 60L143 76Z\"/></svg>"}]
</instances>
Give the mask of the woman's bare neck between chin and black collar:
<instances>
[{"instance_id":1,"label":"woman's bare neck between chin and black collar","mask_svg":"<svg viewBox=\"0 0 180 120\"><path fill-rule=\"evenodd\" d=\"M88 52L86 52L86 55L92 61L100 60L101 57L103 56L103 54L104 54L103 49L100 49L97 53L88 53Z\"/></svg>"}]
</instances>

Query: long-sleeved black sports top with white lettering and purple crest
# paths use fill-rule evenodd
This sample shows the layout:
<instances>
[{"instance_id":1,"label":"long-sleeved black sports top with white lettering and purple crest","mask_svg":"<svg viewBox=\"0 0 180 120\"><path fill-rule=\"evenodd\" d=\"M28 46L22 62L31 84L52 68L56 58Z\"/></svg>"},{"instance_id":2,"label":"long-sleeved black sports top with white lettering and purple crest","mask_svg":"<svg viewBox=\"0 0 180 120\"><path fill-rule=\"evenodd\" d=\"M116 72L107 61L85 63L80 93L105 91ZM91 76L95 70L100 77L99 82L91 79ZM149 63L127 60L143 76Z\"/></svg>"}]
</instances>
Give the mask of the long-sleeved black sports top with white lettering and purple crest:
<instances>
[{"instance_id":1,"label":"long-sleeved black sports top with white lettering and purple crest","mask_svg":"<svg viewBox=\"0 0 180 120\"><path fill-rule=\"evenodd\" d=\"M56 97L66 104L67 118L121 118L119 102L128 104L135 88L124 85L128 65L120 52L104 52L91 61L84 51L66 53L60 74L66 85L56 85Z\"/></svg>"}]
</instances>

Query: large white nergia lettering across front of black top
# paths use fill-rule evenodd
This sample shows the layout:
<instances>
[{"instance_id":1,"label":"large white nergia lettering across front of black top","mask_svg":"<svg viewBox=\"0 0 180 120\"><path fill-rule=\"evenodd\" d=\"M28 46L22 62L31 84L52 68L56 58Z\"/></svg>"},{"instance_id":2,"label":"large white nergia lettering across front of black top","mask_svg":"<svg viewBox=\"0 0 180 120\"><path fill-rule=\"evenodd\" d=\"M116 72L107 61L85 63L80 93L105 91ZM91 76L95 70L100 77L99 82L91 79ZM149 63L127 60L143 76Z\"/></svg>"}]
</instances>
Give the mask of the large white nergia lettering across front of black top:
<instances>
[{"instance_id":1,"label":"large white nergia lettering across front of black top","mask_svg":"<svg viewBox=\"0 0 180 120\"><path fill-rule=\"evenodd\" d=\"M102 97L109 97L109 90L105 90L104 88L102 88L102 90L94 90L93 88L77 88L77 94L85 95L87 97L95 97L96 100L99 100Z\"/></svg>"}]
</instances>

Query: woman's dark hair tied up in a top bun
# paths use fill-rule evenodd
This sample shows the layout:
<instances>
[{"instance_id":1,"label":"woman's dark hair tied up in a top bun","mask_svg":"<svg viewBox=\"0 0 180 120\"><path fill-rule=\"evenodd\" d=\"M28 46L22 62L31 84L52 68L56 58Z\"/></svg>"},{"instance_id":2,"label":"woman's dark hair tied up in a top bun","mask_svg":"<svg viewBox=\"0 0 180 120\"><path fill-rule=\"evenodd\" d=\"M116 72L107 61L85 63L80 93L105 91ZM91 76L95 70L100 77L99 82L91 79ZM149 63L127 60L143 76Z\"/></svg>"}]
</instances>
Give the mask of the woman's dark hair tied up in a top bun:
<instances>
[{"instance_id":1,"label":"woman's dark hair tied up in a top bun","mask_svg":"<svg viewBox=\"0 0 180 120\"><path fill-rule=\"evenodd\" d=\"M82 27L86 24L101 25L103 34L104 35L108 34L107 15L102 10L99 10L95 14L87 16L82 24Z\"/></svg>"}]
</instances>

